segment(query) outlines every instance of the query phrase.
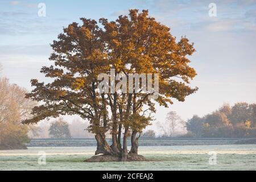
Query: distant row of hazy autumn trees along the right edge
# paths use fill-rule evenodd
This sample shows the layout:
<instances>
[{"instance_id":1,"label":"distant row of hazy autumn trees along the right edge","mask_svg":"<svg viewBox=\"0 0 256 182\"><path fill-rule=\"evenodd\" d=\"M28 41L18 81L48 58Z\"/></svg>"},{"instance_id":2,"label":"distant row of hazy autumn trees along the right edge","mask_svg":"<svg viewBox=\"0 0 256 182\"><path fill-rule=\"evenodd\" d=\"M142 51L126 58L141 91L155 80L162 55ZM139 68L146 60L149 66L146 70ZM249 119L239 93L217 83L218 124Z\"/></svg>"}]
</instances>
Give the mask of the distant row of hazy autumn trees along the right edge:
<instances>
[{"instance_id":1,"label":"distant row of hazy autumn trees along the right edge","mask_svg":"<svg viewBox=\"0 0 256 182\"><path fill-rule=\"evenodd\" d=\"M186 127L186 137L255 138L256 104L224 104L204 117L194 115Z\"/></svg>"}]
</instances>

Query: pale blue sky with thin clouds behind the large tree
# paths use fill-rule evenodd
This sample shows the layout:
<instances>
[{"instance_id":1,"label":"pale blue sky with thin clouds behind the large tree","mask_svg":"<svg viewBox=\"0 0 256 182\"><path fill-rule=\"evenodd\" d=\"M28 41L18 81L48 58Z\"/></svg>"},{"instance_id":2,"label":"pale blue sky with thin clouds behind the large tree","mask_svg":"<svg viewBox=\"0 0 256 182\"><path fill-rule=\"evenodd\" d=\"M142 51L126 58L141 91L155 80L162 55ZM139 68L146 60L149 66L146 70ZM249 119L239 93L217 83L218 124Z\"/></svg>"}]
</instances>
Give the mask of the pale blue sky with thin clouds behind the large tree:
<instances>
[{"instance_id":1,"label":"pale blue sky with thin clouds behind the large tree","mask_svg":"<svg viewBox=\"0 0 256 182\"><path fill-rule=\"evenodd\" d=\"M39 16L45 5L45 15ZM216 16L210 3L216 5ZM168 108L157 106L156 121L168 111L184 120L203 116L224 103L256 102L256 0L210 1L0 1L1 76L31 90L31 78L44 81L40 73L48 60L53 40L69 23L79 18L115 20L129 9L148 9L150 16L171 28L171 34L195 43L191 67L197 76L191 82L199 90L184 102L174 100ZM155 121L155 122L156 122ZM151 126L151 127L154 127Z\"/></svg>"}]
</instances>

